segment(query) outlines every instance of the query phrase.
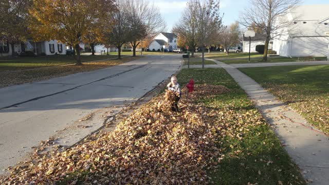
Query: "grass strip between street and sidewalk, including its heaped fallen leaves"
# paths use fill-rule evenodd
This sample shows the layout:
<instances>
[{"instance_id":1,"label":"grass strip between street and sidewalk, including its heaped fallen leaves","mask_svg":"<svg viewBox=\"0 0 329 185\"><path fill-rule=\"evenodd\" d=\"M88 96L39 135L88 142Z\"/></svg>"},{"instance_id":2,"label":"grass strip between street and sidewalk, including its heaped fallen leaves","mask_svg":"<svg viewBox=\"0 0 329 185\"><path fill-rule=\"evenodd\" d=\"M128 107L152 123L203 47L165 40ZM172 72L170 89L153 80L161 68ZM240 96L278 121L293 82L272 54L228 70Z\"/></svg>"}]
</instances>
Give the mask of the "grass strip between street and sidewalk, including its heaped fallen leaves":
<instances>
[{"instance_id":1,"label":"grass strip between street and sidewalk, including its heaped fallen leaves","mask_svg":"<svg viewBox=\"0 0 329 185\"><path fill-rule=\"evenodd\" d=\"M61 184L305 184L261 114L223 69L183 69L180 113L162 93L119 123L0 182ZM205 84L206 83L206 84ZM202 84L202 85L201 85Z\"/></svg>"}]
</instances>

